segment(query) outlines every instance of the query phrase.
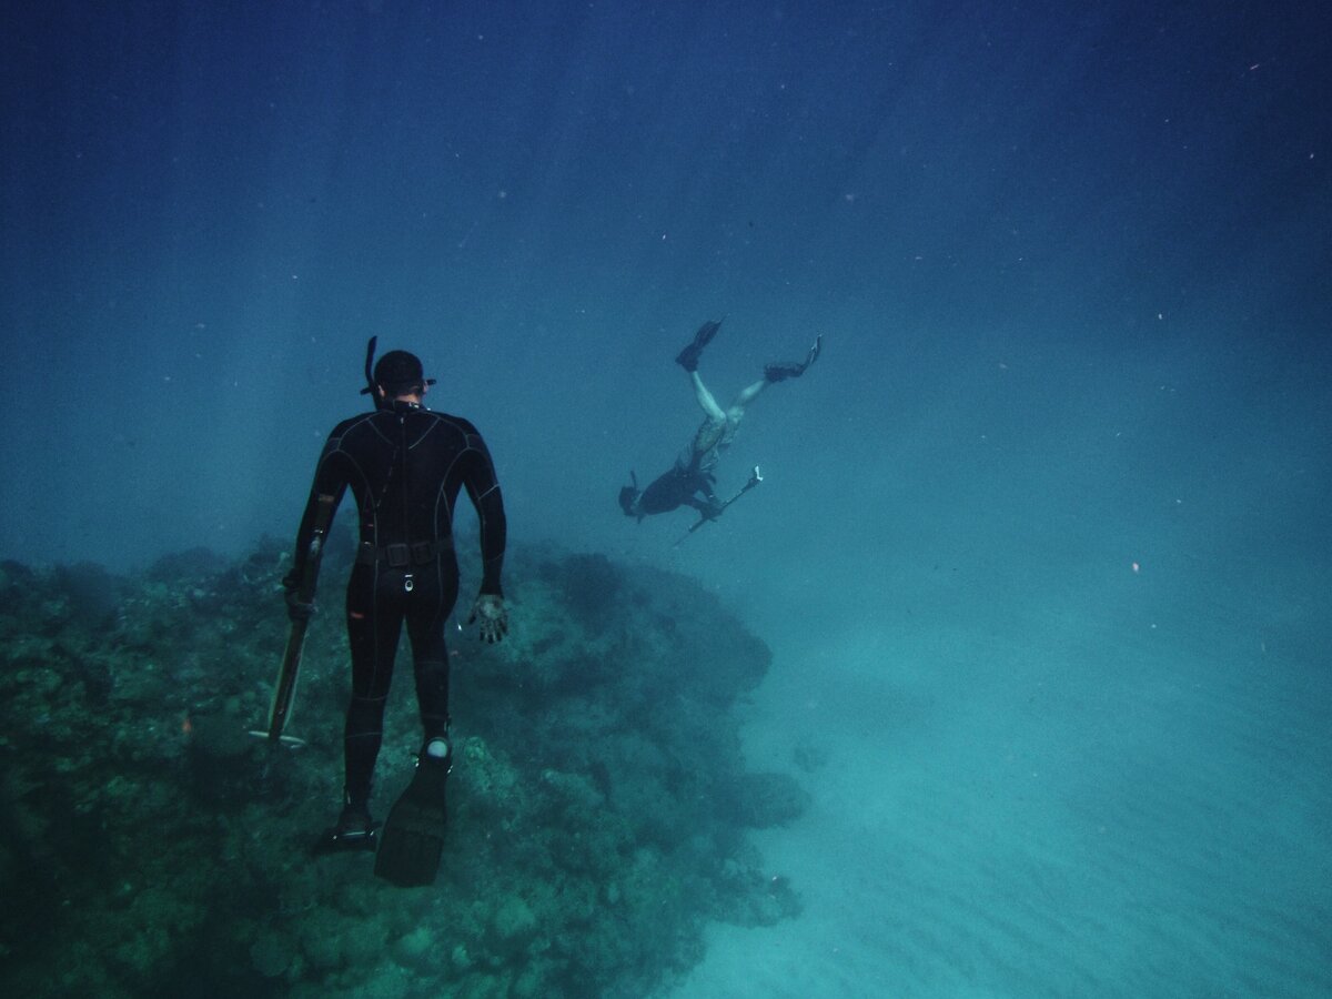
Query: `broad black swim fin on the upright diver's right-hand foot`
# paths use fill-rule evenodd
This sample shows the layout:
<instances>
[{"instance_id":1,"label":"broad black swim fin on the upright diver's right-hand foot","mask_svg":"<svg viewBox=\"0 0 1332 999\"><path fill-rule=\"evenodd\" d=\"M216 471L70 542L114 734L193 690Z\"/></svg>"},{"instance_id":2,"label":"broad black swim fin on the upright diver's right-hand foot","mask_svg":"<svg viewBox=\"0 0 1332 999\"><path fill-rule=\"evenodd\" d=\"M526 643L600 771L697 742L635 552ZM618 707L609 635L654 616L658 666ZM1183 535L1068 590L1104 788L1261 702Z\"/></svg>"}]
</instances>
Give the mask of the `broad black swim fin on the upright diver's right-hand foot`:
<instances>
[{"instance_id":1,"label":"broad black swim fin on the upright diver's right-hand foot","mask_svg":"<svg viewBox=\"0 0 1332 999\"><path fill-rule=\"evenodd\" d=\"M444 852L444 786L452 763L452 753L442 759L421 754L412 783L378 832L377 876L404 888L434 884Z\"/></svg>"}]
</instances>

